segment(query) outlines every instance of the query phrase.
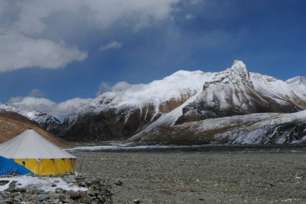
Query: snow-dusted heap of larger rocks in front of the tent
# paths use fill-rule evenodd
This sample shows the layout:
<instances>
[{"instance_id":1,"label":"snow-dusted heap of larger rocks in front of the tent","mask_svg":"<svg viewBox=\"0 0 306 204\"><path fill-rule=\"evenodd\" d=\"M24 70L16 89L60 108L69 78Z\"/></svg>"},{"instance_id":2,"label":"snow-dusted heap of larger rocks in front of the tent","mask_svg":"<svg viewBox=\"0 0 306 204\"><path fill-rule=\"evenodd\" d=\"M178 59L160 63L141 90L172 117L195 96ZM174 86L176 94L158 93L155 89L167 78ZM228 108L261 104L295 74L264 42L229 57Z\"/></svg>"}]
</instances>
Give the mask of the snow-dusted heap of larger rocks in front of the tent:
<instances>
[{"instance_id":1,"label":"snow-dusted heap of larger rocks in front of the tent","mask_svg":"<svg viewBox=\"0 0 306 204\"><path fill-rule=\"evenodd\" d=\"M112 203L110 189L98 176L88 180L81 174L18 176L12 173L0 177L0 204Z\"/></svg>"}]
</instances>

